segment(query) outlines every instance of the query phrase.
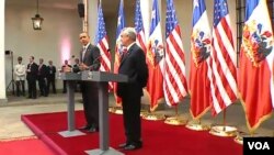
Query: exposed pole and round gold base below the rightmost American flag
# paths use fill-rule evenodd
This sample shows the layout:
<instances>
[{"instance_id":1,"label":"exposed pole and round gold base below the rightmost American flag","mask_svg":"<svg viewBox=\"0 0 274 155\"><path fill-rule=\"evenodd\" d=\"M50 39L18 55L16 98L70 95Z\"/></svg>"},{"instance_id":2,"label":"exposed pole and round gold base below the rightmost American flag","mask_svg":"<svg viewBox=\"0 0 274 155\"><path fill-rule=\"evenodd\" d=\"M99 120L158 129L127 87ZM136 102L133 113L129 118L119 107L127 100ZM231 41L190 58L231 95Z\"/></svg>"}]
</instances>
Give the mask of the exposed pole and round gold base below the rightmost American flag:
<instances>
[{"instance_id":1,"label":"exposed pole and round gold base below the rightmost American flag","mask_svg":"<svg viewBox=\"0 0 274 155\"><path fill-rule=\"evenodd\" d=\"M222 111L222 125L214 125L212 126L209 133L217 136L236 136L237 128L228 126L226 122L227 110Z\"/></svg>"}]
</instances>

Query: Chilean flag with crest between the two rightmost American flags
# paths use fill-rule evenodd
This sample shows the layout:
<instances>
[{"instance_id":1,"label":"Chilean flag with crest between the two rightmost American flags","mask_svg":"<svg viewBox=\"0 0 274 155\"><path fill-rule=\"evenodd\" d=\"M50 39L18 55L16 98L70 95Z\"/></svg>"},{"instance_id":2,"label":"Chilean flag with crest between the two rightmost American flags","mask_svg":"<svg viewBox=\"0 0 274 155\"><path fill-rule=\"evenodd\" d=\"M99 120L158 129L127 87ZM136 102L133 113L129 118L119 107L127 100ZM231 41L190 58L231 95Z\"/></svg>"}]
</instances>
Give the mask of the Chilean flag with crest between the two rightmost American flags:
<instances>
[{"instance_id":1,"label":"Chilean flag with crest between the two rightmost American flags","mask_svg":"<svg viewBox=\"0 0 274 155\"><path fill-rule=\"evenodd\" d=\"M210 109L212 36L204 0L193 1L191 36L190 95L191 114L197 120Z\"/></svg>"}]
</instances>

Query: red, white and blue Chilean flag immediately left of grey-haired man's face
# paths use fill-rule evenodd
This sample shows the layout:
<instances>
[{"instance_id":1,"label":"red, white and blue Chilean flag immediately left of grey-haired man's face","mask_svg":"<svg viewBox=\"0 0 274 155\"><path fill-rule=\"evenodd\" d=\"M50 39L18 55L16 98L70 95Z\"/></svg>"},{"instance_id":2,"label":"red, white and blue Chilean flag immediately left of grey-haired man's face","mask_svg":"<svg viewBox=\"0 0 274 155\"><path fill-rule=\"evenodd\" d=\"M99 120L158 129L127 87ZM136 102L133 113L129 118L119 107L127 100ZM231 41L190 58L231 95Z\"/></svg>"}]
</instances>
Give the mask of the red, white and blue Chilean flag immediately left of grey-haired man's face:
<instances>
[{"instance_id":1,"label":"red, white and blue Chilean flag immediately left of grey-haired man's face","mask_svg":"<svg viewBox=\"0 0 274 155\"><path fill-rule=\"evenodd\" d=\"M115 46L115 62L114 62L114 73L118 74L119 68L119 59L123 53L123 47L121 45L121 32L125 27L125 18L124 18L124 0L119 1L119 10L118 10L118 20L117 20L117 30L116 30L116 46ZM121 98L116 95L117 92L117 82L114 82L114 97L116 100L116 104L121 106Z\"/></svg>"}]
</instances>

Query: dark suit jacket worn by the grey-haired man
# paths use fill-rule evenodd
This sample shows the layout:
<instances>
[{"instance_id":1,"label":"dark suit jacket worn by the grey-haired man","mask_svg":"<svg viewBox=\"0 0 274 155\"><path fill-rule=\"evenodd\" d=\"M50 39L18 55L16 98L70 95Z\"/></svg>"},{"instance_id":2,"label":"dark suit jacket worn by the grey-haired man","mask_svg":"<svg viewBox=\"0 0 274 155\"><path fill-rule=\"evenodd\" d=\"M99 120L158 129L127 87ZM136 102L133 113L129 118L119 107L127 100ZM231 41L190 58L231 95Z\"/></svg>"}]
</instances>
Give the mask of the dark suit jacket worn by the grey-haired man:
<instances>
[{"instance_id":1,"label":"dark suit jacket worn by the grey-haired man","mask_svg":"<svg viewBox=\"0 0 274 155\"><path fill-rule=\"evenodd\" d=\"M148 67L144 51L134 44L128 53L123 56L118 69L119 74L127 75L129 82L118 82L117 95L127 96L129 92L142 96L142 88L147 85Z\"/></svg>"}]
</instances>

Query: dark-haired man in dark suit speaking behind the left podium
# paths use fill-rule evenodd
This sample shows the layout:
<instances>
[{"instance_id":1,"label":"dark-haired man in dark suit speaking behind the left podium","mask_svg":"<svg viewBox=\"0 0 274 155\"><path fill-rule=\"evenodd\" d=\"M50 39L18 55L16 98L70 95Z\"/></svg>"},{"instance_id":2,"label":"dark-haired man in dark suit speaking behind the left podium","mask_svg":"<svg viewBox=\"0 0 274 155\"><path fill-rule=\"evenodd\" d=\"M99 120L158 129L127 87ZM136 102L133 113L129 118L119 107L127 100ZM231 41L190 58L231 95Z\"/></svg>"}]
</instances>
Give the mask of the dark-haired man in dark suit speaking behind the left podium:
<instances>
[{"instance_id":1,"label":"dark-haired man in dark suit speaking behind the left podium","mask_svg":"<svg viewBox=\"0 0 274 155\"><path fill-rule=\"evenodd\" d=\"M99 70L100 68L100 49L90 43L90 36L83 32L79 35L83 46L80 53L80 66L72 68L75 73L81 70ZM82 81L81 91L83 99L83 110L87 124L82 130L88 132L99 131L99 88L95 81Z\"/></svg>"}]
</instances>

